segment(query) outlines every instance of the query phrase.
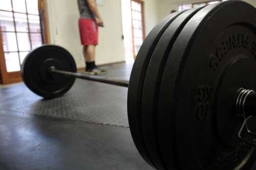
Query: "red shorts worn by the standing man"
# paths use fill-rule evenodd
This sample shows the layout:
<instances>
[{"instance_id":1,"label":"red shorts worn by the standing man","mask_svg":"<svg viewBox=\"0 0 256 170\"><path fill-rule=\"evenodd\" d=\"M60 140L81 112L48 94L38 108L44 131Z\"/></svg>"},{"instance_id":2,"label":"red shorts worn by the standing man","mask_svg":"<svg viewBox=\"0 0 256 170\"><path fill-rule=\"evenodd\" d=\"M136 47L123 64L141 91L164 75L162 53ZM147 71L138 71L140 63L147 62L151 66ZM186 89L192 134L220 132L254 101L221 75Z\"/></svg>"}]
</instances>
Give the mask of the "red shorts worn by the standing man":
<instances>
[{"instance_id":1,"label":"red shorts worn by the standing man","mask_svg":"<svg viewBox=\"0 0 256 170\"><path fill-rule=\"evenodd\" d=\"M82 45L98 44L98 23L96 19L79 18L79 31Z\"/></svg>"}]
</instances>

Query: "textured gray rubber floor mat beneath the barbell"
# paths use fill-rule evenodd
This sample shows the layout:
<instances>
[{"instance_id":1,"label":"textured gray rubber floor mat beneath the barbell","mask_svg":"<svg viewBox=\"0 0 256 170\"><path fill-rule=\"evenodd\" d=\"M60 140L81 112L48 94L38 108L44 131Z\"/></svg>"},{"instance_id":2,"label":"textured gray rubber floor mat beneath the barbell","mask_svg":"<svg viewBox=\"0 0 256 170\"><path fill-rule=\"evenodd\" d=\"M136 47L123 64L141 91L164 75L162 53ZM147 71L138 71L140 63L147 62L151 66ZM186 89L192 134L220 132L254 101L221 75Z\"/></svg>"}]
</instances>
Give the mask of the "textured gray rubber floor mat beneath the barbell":
<instances>
[{"instance_id":1,"label":"textured gray rubber floor mat beneath the barbell","mask_svg":"<svg viewBox=\"0 0 256 170\"><path fill-rule=\"evenodd\" d=\"M109 71L112 75L118 66ZM122 71L120 71L122 72ZM122 72L123 73L123 72ZM110 76L106 75L106 76ZM125 75L126 77L127 75ZM121 78L114 74L114 77ZM23 83L0 88L0 113L12 111L128 128L127 88L77 79L61 98L44 100Z\"/></svg>"}]
</instances>

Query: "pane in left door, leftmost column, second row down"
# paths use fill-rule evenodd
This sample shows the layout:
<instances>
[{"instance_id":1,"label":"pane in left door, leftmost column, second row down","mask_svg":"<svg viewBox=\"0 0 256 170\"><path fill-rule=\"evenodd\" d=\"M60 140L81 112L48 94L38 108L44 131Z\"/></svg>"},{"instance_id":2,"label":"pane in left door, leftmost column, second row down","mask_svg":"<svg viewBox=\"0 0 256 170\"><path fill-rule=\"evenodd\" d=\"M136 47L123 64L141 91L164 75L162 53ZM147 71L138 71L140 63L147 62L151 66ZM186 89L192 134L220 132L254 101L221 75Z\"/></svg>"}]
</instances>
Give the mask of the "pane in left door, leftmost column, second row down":
<instances>
[{"instance_id":1,"label":"pane in left door, leftmost column, second row down","mask_svg":"<svg viewBox=\"0 0 256 170\"><path fill-rule=\"evenodd\" d=\"M14 31L12 12L0 11L0 26L2 31Z\"/></svg>"}]
</instances>

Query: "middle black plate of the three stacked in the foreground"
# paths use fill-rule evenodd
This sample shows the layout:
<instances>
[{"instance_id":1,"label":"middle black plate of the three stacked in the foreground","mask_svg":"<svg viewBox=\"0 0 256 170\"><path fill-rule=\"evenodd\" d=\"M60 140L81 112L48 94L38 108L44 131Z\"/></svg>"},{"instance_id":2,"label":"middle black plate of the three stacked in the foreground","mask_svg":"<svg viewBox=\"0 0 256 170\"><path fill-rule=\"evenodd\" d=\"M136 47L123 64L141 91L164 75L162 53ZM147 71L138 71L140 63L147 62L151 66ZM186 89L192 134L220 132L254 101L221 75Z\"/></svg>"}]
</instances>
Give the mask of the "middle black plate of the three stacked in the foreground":
<instances>
[{"instance_id":1,"label":"middle black plate of the three stacked in the foreground","mask_svg":"<svg viewBox=\"0 0 256 170\"><path fill-rule=\"evenodd\" d=\"M162 80L162 74L168 54L178 37L179 33L185 26L186 22L197 13L201 8L195 8L180 14L164 31L159 39L155 50L148 64L143 93L142 93L142 129L146 149L157 169L174 168L175 159L172 153L168 155L168 161L163 161L162 154L158 144L157 133L157 107L158 92ZM169 140L170 141L170 140ZM169 144L170 146L171 144ZM168 148L166 148L168 149ZM172 159L173 158L173 159ZM165 165L166 164L166 165Z\"/></svg>"}]
</instances>

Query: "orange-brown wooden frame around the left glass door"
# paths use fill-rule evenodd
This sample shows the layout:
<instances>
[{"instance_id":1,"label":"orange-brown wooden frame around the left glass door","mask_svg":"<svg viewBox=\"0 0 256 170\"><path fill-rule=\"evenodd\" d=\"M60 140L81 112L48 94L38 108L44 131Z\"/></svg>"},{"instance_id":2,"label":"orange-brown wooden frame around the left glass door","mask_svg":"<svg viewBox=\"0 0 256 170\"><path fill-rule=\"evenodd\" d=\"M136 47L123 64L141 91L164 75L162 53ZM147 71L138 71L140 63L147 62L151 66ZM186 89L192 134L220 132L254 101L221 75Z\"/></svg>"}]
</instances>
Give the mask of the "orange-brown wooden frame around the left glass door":
<instances>
[{"instance_id":1,"label":"orange-brown wooden frame around the left glass door","mask_svg":"<svg viewBox=\"0 0 256 170\"><path fill-rule=\"evenodd\" d=\"M38 0L42 43L49 43L49 29L47 17L47 0ZM0 31L0 84L10 84L22 81L20 71L7 72L3 49L2 32Z\"/></svg>"}]
</instances>

